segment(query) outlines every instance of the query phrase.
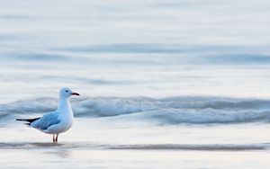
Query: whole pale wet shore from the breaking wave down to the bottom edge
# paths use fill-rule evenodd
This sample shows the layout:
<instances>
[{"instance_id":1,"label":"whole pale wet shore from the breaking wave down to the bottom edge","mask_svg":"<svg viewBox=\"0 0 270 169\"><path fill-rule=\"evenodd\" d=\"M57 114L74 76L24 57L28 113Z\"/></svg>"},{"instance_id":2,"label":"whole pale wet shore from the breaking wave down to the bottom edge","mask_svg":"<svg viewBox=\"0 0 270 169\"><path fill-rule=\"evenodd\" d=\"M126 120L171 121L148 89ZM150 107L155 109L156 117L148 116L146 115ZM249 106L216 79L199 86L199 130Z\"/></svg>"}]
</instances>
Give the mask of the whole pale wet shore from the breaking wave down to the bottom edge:
<instances>
[{"instance_id":1,"label":"whole pale wet shore from the breaking wave down to the bottom edge","mask_svg":"<svg viewBox=\"0 0 270 169\"><path fill-rule=\"evenodd\" d=\"M74 128L53 144L49 135L21 123L10 123L0 128L3 168L270 166L266 124L138 127L76 119Z\"/></svg>"}]
</instances>

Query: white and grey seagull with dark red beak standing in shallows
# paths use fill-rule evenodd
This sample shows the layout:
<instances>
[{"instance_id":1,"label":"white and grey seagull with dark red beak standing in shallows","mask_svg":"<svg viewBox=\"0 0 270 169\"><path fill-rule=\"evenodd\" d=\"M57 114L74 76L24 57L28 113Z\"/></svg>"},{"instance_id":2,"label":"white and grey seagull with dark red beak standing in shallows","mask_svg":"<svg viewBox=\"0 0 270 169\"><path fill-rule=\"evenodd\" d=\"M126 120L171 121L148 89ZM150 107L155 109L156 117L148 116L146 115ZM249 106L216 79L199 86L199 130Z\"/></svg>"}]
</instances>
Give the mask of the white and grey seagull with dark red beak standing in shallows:
<instances>
[{"instance_id":1,"label":"white and grey seagull with dark red beak standing in shallows","mask_svg":"<svg viewBox=\"0 0 270 169\"><path fill-rule=\"evenodd\" d=\"M70 129L73 124L73 111L68 100L72 95L80 94L72 92L67 87L61 88L59 91L58 109L56 111L48 112L39 118L16 120L27 121L25 124L31 128L52 134L53 143L57 143L58 135Z\"/></svg>"}]
</instances>

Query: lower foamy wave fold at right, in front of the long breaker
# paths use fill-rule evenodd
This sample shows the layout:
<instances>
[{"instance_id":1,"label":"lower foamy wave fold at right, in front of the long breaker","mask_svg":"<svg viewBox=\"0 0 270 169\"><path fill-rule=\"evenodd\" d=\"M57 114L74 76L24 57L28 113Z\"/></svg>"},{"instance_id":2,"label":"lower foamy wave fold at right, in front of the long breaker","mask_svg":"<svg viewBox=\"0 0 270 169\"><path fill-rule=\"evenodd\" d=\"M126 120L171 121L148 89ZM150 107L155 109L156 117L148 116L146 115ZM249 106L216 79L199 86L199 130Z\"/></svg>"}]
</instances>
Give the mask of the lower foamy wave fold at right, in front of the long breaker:
<instances>
[{"instance_id":1,"label":"lower foamy wave fold at right, in front of the long breaker","mask_svg":"<svg viewBox=\"0 0 270 169\"><path fill-rule=\"evenodd\" d=\"M226 124L245 122L269 122L270 111L217 111L204 110L177 110L166 109L159 111L144 111L141 113L117 117L120 120L147 120L157 125L170 124Z\"/></svg>"}]
</instances>

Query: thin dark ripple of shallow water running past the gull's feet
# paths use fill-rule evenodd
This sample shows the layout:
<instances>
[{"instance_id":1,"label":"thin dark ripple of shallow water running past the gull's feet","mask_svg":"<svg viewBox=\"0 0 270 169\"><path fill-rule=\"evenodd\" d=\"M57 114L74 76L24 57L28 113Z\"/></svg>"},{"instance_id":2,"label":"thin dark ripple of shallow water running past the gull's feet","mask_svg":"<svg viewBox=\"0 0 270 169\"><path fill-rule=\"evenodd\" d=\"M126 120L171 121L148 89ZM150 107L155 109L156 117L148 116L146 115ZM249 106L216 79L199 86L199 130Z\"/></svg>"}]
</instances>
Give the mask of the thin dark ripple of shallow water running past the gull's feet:
<instances>
[{"instance_id":1,"label":"thin dark ripple of shallow water running past the gull's feet","mask_svg":"<svg viewBox=\"0 0 270 169\"><path fill-rule=\"evenodd\" d=\"M89 143L0 143L1 149L114 149L114 150L193 150L193 151L247 151L266 150L269 144L250 145L175 145L175 144L153 144L153 145L98 145Z\"/></svg>"}]
</instances>

